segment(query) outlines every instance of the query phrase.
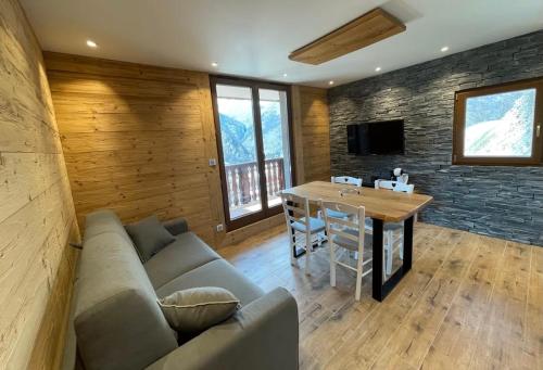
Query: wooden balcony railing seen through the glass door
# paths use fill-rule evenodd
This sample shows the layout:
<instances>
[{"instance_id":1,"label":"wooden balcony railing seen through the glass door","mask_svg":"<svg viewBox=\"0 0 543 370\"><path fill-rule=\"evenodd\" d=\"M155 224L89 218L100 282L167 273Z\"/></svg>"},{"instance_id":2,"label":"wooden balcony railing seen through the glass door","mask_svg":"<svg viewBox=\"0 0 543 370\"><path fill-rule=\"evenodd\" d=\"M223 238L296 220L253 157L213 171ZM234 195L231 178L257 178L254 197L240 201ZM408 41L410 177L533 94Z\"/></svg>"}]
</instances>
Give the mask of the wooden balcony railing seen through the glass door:
<instances>
[{"instance_id":1,"label":"wooden balcony railing seen through the glass door","mask_svg":"<svg viewBox=\"0 0 543 370\"><path fill-rule=\"evenodd\" d=\"M264 162L264 165L267 197L270 201L277 197L279 191L283 189L283 161L282 158L267 160ZM256 162L225 166L225 171L230 209L261 202L261 187Z\"/></svg>"}]
</instances>

